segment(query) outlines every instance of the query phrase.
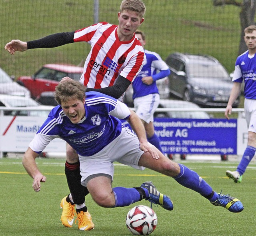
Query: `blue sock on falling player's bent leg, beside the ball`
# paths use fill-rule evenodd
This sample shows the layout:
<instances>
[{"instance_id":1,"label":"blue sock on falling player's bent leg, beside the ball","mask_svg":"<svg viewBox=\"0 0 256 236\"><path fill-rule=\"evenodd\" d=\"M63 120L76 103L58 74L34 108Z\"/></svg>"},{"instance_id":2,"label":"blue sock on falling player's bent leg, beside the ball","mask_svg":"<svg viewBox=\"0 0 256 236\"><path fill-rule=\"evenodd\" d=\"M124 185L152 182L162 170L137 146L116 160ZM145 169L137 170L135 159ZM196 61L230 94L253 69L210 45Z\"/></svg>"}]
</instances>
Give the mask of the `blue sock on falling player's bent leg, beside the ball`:
<instances>
[{"instance_id":1,"label":"blue sock on falling player's bent leg, beside the ball","mask_svg":"<svg viewBox=\"0 0 256 236\"><path fill-rule=\"evenodd\" d=\"M114 207L129 206L141 200L140 193L136 188L115 187L113 188L113 192L116 199L116 205Z\"/></svg>"}]
</instances>

